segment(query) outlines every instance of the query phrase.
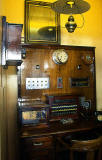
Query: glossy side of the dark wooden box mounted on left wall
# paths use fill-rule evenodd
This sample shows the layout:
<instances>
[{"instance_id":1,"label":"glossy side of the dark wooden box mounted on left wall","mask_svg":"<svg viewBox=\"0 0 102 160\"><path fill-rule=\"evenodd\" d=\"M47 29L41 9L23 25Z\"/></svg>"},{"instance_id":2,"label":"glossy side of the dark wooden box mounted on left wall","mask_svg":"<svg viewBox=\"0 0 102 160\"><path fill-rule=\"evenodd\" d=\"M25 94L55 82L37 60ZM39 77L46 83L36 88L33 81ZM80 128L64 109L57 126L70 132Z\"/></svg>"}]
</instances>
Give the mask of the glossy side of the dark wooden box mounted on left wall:
<instances>
[{"instance_id":1,"label":"glossy side of the dark wooden box mounted on left wall","mask_svg":"<svg viewBox=\"0 0 102 160\"><path fill-rule=\"evenodd\" d=\"M6 63L8 65L17 65L21 63L21 24L7 25L7 49L6 49Z\"/></svg>"}]
</instances>

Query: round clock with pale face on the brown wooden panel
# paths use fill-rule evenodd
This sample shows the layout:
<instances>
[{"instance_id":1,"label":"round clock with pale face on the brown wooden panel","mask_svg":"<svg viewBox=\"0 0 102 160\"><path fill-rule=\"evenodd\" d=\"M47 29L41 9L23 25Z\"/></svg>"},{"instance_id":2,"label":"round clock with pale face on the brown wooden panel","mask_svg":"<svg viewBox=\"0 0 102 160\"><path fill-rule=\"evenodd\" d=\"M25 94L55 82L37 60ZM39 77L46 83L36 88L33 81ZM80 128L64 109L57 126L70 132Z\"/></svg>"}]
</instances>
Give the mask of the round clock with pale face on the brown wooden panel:
<instances>
[{"instance_id":1,"label":"round clock with pale face on the brown wooden panel","mask_svg":"<svg viewBox=\"0 0 102 160\"><path fill-rule=\"evenodd\" d=\"M64 49L58 49L53 52L52 58L56 64L64 64L68 60L68 54Z\"/></svg>"}]
</instances>

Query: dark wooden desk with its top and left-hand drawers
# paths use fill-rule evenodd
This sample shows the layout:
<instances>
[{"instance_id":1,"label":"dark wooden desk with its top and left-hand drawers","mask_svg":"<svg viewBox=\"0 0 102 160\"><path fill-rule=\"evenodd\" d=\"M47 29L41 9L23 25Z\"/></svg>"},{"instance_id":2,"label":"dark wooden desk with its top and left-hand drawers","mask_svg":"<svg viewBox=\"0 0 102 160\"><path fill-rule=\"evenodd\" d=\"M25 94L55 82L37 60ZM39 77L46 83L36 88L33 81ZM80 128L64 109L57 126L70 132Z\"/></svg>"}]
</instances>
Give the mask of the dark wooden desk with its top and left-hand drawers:
<instances>
[{"instance_id":1,"label":"dark wooden desk with its top and left-hand drawers","mask_svg":"<svg viewBox=\"0 0 102 160\"><path fill-rule=\"evenodd\" d=\"M76 120L72 124L50 122L48 126L25 126L20 132L21 159L53 160L56 158L56 139L66 135L97 131L102 133L102 122L96 120ZM62 148L63 150L63 148Z\"/></svg>"}]
</instances>

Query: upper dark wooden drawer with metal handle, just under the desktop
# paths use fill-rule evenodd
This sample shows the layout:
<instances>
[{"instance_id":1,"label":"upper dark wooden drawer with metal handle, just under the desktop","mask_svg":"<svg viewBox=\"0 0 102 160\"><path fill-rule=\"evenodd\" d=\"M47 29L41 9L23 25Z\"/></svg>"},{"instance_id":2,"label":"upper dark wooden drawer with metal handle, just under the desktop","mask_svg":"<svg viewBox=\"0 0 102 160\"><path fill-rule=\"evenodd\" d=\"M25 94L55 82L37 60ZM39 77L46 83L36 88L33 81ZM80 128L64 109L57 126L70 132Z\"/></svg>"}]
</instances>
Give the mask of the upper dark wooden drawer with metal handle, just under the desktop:
<instances>
[{"instance_id":1,"label":"upper dark wooden drawer with metal handle, just under the desktop","mask_svg":"<svg viewBox=\"0 0 102 160\"><path fill-rule=\"evenodd\" d=\"M27 150L36 149L50 149L53 148L53 138L50 137L39 137L39 138L25 138L23 146Z\"/></svg>"}]
</instances>

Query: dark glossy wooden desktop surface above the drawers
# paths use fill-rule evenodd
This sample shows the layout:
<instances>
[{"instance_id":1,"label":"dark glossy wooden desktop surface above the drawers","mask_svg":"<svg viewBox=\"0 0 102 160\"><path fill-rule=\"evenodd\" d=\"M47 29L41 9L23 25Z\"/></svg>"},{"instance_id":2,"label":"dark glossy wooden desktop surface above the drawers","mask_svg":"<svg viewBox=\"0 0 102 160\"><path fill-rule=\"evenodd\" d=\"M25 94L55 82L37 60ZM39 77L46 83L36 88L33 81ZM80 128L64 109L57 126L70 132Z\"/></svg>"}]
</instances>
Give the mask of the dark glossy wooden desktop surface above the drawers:
<instances>
[{"instance_id":1,"label":"dark glossy wooden desktop surface above the drawers","mask_svg":"<svg viewBox=\"0 0 102 160\"><path fill-rule=\"evenodd\" d=\"M102 122L94 120L78 120L72 124L61 124L60 122L51 122L44 128L34 126L24 126L21 130L21 138L58 135L63 133L84 132L102 127Z\"/></svg>"}]
</instances>

